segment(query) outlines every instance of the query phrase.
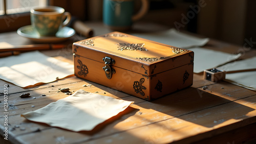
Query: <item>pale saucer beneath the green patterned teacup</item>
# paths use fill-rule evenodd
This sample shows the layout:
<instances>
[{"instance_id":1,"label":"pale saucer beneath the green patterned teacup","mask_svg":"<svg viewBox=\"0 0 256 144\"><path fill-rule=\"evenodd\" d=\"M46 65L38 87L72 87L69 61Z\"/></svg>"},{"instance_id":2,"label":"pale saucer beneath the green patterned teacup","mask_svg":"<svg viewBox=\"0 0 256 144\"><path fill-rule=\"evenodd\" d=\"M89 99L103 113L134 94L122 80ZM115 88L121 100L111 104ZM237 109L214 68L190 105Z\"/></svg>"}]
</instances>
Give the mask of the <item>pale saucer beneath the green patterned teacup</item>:
<instances>
[{"instance_id":1,"label":"pale saucer beneath the green patterned teacup","mask_svg":"<svg viewBox=\"0 0 256 144\"><path fill-rule=\"evenodd\" d=\"M18 28L17 34L38 43L57 43L72 37L75 34L75 30L73 28L65 26L60 28L60 30L56 33L55 37L45 37L40 36L34 30L32 25L27 25Z\"/></svg>"}]
</instances>

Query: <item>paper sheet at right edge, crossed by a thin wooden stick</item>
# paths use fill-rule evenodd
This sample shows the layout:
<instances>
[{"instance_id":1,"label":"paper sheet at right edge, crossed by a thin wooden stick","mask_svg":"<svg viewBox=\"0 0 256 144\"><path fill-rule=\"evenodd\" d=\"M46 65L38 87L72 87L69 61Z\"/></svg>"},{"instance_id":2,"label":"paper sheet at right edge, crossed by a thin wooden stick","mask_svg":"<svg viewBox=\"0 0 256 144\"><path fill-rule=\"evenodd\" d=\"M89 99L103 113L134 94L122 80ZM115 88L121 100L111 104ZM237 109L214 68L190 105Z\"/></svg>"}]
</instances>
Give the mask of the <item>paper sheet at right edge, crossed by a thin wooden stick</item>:
<instances>
[{"instance_id":1,"label":"paper sheet at right edge, crossed by a thin wooden stick","mask_svg":"<svg viewBox=\"0 0 256 144\"><path fill-rule=\"evenodd\" d=\"M250 59L236 61L223 65L221 67L218 67L218 69L222 69L225 71L256 69L256 56ZM225 81L256 91L256 71L228 73L226 74Z\"/></svg>"}]
</instances>

